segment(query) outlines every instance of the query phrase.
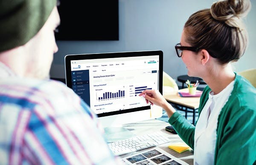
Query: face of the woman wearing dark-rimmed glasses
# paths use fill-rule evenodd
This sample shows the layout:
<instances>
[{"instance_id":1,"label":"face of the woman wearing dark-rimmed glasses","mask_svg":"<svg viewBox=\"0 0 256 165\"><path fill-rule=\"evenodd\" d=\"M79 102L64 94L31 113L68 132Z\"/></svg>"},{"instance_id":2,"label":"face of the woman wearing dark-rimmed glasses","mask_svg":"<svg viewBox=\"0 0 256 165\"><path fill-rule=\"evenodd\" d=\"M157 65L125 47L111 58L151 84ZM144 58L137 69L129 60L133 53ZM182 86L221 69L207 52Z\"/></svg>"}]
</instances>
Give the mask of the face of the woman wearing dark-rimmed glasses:
<instances>
[{"instance_id":1,"label":"face of the woman wearing dark-rimmed glasses","mask_svg":"<svg viewBox=\"0 0 256 165\"><path fill-rule=\"evenodd\" d=\"M191 46L189 43L186 42L186 33L184 33L184 30L181 34L180 39L180 45L181 46ZM194 76L199 77L198 72L200 71L200 59L199 56L197 56L198 53L190 51L190 50L183 50L181 59L186 65L186 68L188 69L188 76Z\"/></svg>"}]
</instances>

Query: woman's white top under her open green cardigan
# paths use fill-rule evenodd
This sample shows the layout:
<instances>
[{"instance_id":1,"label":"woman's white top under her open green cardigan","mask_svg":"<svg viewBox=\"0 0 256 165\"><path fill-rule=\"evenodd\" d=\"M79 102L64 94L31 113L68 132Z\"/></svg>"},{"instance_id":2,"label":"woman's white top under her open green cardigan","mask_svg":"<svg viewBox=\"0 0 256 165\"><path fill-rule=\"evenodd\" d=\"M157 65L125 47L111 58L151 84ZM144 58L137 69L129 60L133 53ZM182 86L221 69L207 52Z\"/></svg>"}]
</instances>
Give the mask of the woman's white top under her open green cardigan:
<instances>
[{"instance_id":1,"label":"woman's white top under her open green cardigan","mask_svg":"<svg viewBox=\"0 0 256 165\"><path fill-rule=\"evenodd\" d=\"M209 92L209 99L195 127L194 165L214 164L218 115L233 90L234 82L232 81L217 95Z\"/></svg>"}]
</instances>

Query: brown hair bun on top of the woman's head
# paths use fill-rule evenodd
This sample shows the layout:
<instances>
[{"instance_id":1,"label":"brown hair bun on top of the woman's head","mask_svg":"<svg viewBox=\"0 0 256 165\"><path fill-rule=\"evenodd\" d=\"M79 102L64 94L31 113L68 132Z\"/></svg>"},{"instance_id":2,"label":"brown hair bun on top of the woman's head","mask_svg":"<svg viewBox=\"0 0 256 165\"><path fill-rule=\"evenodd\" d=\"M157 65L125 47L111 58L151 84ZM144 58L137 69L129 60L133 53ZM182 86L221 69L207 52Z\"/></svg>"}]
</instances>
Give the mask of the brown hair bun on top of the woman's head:
<instances>
[{"instance_id":1,"label":"brown hair bun on top of the woman's head","mask_svg":"<svg viewBox=\"0 0 256 165\"><path fill-rule=\"evenodd\" d=\"M230 27L243 29L242 18L250 11L250 0L223 0L212 4L210 12L215 20Z\"/></svg>"}]
</instances>

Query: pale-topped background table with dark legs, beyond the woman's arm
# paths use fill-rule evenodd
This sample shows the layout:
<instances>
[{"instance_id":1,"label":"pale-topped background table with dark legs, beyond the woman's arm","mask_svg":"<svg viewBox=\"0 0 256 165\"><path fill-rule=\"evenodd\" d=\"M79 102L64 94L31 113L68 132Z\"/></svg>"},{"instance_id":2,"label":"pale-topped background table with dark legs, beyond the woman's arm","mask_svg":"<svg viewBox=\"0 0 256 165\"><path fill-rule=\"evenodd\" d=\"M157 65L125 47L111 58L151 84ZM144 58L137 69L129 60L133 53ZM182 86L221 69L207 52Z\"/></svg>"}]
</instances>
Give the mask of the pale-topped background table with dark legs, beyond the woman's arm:
<instances>
[{"instance_id":1,"label":"pale-topped background table with dark legs, beyond the woman's arm","mask_svg":"<svg viewBox=\"0 0 256 165\"><path fill-rule=\"evenodd\" d=\"M179 91L188 92L188 88L180 89ZM185 118L187 118L187 112L193 113L193 122L195 125L195 111L199 107L200 97L180 97L177 92L171 92L169 87L163 86L163 97L169 102L177 106L182 106L185 108ZM192 109L192 111L189 111ZM180 109L184 111L183 109Z\"/></svg>"}]
</instances>

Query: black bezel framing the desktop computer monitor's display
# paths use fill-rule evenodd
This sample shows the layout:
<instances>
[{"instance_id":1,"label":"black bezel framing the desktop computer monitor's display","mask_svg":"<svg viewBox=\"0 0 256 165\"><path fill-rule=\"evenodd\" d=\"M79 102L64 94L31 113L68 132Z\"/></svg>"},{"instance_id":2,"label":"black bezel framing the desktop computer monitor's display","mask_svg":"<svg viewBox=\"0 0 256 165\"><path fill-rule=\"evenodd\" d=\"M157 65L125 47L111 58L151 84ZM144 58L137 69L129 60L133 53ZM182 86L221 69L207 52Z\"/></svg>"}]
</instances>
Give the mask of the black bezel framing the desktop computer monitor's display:
<instances>
[{"instance_id":1,"label":"black bezel framing the desktop computer monitor's display","mask_svg":"<svg viewBox=\"0 0 256 165\"><path fill-rule=\"evenodd\" d=\"M73 60L86 60L86 59L109 59L109 58L122 58L122 57L136 57L136 56L159 56L159 92L163 94L163 51L149 50L149 51L133 51L133 52L114 52L114 53L91 53L91 54L74 54L65 56L65 78L67 87L72 89L71 78L71 61ZM124 109L113 112L105 112L97 114L98 117L105 117L110 115L118 115L129 112L137 112L150 109L149 106L137 107L132 109Z\"/></svg>"}]
</instances>

